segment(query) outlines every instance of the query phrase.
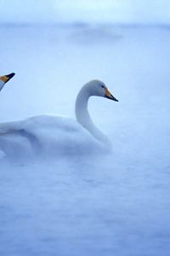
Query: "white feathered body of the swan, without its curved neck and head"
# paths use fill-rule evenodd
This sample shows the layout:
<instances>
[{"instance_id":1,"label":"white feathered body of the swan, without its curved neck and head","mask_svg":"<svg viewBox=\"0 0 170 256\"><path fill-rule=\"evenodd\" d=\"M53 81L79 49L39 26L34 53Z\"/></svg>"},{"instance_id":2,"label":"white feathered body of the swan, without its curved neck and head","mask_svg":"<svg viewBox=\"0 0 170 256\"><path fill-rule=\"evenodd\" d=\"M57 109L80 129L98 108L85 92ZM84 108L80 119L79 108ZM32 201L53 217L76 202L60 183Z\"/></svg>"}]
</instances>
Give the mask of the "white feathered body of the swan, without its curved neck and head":
<instances>
[{"instance_id":1,"label":"white feathered body of the swan, without its curved neck and head","mask_svg":"<svg viewBox=\"0 0 170 256\"><path fill-rule=\"evenodd\" d=\"M26 150L46 154L84 154L95 143L94 137L82 125L65 117L42 115L0 125L0 149L10 155Z\"/></svg>"}]
</instances>

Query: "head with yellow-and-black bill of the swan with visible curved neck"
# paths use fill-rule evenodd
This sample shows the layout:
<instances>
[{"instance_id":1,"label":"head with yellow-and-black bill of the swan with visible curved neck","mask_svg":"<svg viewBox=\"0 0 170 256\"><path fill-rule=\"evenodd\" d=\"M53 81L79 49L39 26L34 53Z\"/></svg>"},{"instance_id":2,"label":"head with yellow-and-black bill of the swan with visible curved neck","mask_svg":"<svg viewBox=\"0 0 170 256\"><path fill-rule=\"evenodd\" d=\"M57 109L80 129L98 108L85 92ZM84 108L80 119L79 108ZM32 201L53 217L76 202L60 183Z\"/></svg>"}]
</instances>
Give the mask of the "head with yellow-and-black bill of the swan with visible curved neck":
<instances>
[{"instance_id":1,"label":"head with yellow-and-black bill of the swan with visible curved neck","mask_svg":"<svg viewBox=\"0 0 170 256\"><path fill-rule=\"evenodd\" d=\"M101 96L101 97L105 97L109 100L118 102L116 97L111 94L111 92L109 91L107 86L104 84L104 82L95 79L95 80L88 82L88 85L90 87L92 96Z\"/></svg>"}]
</instances>

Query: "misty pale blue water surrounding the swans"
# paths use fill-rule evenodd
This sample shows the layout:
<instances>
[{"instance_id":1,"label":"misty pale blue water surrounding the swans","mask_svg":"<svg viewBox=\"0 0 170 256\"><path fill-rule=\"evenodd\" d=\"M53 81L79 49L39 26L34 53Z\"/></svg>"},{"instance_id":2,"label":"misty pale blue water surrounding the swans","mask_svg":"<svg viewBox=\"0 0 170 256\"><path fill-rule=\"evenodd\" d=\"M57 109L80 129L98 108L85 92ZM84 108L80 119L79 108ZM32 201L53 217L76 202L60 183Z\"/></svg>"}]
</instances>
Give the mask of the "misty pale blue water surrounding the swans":
<instances>
[{"instance_id":1,"label":"misty pale blue water surrounding the swans","mask_svg":"<svg viewBox=\"0 0 170 256\"><path fill-rule=\"evenodd\" d=\"M111 154L51 149L23 159L14 147L12 159L1 158L0 255L169 255L169 27L0 32L1 74L16 73L0 94L1 122L74 118L77 92L90 79L103 80L119 100L89 102Z\"/></svg>"}]
</instances>

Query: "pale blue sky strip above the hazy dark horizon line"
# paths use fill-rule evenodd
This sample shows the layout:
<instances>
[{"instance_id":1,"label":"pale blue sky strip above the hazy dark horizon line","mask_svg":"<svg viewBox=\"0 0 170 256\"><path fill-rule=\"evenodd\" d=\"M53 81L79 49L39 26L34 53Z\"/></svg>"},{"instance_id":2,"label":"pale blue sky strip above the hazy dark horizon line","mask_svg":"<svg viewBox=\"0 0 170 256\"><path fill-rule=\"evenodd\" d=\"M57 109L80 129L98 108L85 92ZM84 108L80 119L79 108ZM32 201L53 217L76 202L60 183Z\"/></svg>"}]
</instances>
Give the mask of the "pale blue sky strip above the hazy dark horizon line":
<instances>
[{"instance_id":1,"label":"pale blue sky strip above the hazy dark horizon line","mask_svg":"<svg viewBox=\"0 0 170 256\"><path fill-rule=\"evenodd\" d=\"M170 23L169 0L0 0L1 22Z\"/></svg>"}]
</instances>

